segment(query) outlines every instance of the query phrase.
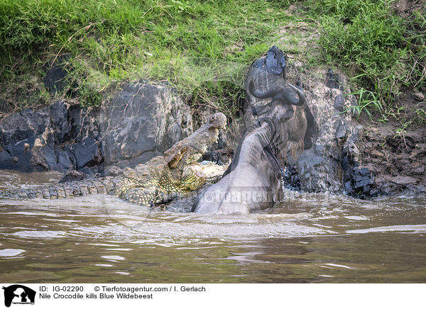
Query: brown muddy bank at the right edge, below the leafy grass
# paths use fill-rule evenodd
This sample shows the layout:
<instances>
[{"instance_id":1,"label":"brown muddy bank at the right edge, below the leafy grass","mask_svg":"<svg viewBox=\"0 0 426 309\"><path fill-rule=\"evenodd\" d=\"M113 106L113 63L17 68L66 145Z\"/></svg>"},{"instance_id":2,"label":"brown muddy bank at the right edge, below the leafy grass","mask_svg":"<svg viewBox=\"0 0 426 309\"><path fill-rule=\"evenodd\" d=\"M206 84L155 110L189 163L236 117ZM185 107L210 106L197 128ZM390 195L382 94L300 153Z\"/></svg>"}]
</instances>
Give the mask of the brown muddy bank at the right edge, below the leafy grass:
<instances>
[{"instance_id":1,"label":"brown muddy bank at the right edge, below the leafy grass","mask_svg":"<svg viewBox=\"0 0 426 309\"><path fill-rule=\"evenodd\" d=\"M423 103L422 108L426 108ZM411 113L407 116L410 118ZM396 120L383 124L361 120L361 164L370 169L379 193L426 192L426 126L405 130Z\"/></svg>"}]
</instances>

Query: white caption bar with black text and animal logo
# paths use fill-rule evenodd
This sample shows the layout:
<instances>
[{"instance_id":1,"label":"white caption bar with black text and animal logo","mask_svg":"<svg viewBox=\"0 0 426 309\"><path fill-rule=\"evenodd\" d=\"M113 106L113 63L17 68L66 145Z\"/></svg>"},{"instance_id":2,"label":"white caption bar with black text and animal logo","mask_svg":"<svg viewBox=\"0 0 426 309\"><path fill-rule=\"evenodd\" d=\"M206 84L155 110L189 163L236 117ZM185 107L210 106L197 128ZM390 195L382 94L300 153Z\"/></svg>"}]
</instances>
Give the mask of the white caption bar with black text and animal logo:
<instances>
[{"instance_id":1,"label":"white caption bar with black text and animal logo","mask_svg":"<svg viewBox=\"0 0 426 309\"><path fill-rule=\"evenodd\" d=\"M0 308L13 309L75 309L79 306L263 309L277 308L277 305L315 309L426 308L424 284L3 283L1 286Z\"/></svg>"}]
</instances>

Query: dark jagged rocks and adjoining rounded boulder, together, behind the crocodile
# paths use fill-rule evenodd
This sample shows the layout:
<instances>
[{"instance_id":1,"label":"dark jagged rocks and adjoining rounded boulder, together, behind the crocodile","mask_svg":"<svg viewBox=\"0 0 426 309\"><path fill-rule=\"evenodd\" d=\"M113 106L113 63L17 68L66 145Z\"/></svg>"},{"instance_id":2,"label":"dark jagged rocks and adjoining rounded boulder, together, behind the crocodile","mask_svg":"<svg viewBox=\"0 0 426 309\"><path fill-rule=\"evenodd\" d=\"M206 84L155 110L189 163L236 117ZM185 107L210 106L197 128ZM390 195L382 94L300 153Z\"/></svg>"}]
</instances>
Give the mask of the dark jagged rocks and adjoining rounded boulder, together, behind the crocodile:
<instances>
[{"instance_id":1,"label":"dark jagged rocks and adjoining rounded boulder, together, behind the crocodile","mask_svg":"<svg viewBox=\"0 0 426 309\"><path fill-rule=\"evenodd\" d=\"M144 163L192 133L190 108L168 84L129 83L102 110L57 101L0 121L0 168L104 171Z\"/></svg>"}]
</instances>

